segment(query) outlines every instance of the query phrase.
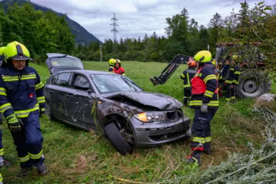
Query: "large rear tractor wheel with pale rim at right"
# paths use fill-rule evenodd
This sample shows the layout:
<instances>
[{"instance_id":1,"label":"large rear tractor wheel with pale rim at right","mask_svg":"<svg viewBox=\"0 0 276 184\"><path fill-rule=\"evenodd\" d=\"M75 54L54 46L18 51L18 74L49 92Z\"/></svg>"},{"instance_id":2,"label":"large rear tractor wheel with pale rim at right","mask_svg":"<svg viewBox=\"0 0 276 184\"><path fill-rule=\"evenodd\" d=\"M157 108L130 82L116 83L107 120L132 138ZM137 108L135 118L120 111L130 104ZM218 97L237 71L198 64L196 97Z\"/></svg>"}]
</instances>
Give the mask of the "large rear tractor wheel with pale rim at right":
<instances>
[{"instance_id":1,"label":"large rear tractor wheel with pale rim at right","mask_svg":"<svg viewBox=\"0 0 276 184\"><path fill-rule=\"evenodd\" d=\"M256 71L258 72L258 71ZM271 81L264 74L253 70L245 70L239 77L239 85L235 88L237 96L241 98L255 99L270 91Z\"/></svg>"}]
</instances>

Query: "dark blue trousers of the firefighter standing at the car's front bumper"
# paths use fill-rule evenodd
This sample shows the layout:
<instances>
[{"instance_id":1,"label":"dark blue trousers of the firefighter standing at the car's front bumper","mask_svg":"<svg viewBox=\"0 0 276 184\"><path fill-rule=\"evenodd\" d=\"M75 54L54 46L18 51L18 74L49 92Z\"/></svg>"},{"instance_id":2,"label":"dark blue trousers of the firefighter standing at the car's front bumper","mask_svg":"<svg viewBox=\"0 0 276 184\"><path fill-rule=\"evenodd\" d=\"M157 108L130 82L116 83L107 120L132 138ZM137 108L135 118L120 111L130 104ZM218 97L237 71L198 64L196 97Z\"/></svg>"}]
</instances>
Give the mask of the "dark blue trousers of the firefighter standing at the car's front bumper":
<instances>
[{"instance_id":1,"label":"dark blue trousers of the firefighter standing at the car's front bumper","mask_svg":"<svg viewBox=\"0 0 276 184\"><path fill-rule=\"evenodd\" d=\"M207 113L202 113L200 108L195 108L195 116L192 125L192 150L194 150L195 147L204 147L205 143L211 141L210 121L212 121L216 112L217 110L208 109Z\"/></svg>"}]
</instances>

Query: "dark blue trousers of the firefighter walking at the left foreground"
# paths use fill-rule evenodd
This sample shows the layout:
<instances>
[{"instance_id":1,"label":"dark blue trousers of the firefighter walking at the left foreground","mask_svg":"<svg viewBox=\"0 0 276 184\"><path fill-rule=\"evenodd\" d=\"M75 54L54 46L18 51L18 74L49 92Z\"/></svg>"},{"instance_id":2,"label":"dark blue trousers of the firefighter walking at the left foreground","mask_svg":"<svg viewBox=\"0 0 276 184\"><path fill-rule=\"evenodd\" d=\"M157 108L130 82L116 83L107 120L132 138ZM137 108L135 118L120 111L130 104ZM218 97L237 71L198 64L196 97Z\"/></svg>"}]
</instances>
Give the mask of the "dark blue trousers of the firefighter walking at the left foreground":
<instances>
[{"instance_id":1,"label":"dark blue trousers of the firefighter walking at the left foreground","mask_svg":"<svg viewBox=\"0 0 276 184\"><path fill-rule=\"evenodd\" d=\"M39 111L30 112L27 118L21 119L24 123L21 131L11 132L14 145L22 169L42 165L44 162L42 143L43 136L39 123Z\"/></svg>"}]
</instances>

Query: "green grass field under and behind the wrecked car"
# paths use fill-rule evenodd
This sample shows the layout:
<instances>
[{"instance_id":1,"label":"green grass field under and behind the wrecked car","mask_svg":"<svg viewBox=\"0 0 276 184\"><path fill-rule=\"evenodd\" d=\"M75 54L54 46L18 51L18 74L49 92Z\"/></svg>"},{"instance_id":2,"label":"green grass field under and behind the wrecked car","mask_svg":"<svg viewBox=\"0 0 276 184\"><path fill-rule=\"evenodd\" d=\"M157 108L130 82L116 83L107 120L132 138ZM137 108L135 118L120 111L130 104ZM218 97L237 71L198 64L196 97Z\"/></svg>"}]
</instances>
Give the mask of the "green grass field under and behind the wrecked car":
<instances>
[{"instance_id":1,"label":"green grass field under and behind the wrecked car","mask_svg":"<svg viewBox=\"0 0 276 184\"><path fill-rule=\"evenodd\" d=\"M107 62L84 61L86 70L106 71ZM161 92L182 101L183 81L180 74L186 68L181 65L164 85L154 87L150 77L158 76L166 63L123 62L126 76L139 84L144 90ZM36 68L41 79L46 81L46 65L31 64ZM273 85L273 92L276 91ZM213 154L202 156L204 170L210 165L219 165L233 152L247 152L246 145L253 142L260 145L257 119L250 108L254 101L237 99L234 105L228 105L220 99L220 107L212 123ZM184 108L184 113L193 118L193 110ZM2 170L5 183L156 183L173 180L176 177L198 172L196 167L186 166L181 162L190 153L188 142L178 141L162 147L138 148L135 153L121 156L103 137L93 132L83 132L74 127L55 121L41 119L44 136L43 151L46 156L48 175L40 177L36 170L30 176L19 178L19 161L16 147L6 123L1 125L6 157L12 161L12 167ZM183 181L184 182L184 181ZM185 182L184 182L185 183Z\"/></svg>"}]
</instances>

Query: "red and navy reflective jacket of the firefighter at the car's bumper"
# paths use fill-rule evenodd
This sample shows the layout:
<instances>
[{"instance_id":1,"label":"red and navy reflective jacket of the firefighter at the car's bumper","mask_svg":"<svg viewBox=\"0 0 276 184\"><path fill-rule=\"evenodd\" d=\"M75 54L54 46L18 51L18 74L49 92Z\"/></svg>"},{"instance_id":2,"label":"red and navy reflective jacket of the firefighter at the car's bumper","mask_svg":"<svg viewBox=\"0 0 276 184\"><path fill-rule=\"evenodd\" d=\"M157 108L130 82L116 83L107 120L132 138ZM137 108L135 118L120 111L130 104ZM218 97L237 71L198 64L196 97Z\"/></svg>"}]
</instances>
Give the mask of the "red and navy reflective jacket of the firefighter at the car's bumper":
<instances>
[{"instance_id":1,"label":"red and navy reflective jacket of the firefighter at the car's bumper","mask_svg":"<svg viewBox=\"0 0 276 184\"><path fill-rule=\"evenodd\" d=\"M208 109L219 108L217 73L212 64L206 63L197 70L191 80L192 96L190 108L199 108L202 103L207 103Z\"/></svg>"}]
</instances>

